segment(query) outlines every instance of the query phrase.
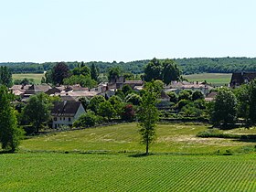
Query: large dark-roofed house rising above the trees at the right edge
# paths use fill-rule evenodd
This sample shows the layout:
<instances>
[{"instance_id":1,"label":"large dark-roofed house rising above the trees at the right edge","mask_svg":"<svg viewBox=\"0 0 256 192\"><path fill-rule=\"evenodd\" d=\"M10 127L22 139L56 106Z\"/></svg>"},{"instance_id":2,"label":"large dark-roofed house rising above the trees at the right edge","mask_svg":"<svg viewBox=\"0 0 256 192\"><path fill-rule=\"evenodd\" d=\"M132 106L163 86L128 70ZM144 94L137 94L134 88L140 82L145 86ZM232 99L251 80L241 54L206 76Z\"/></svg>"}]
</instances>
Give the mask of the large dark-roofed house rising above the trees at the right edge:
<instances>
[{"instance_id":1,"label":"large dark-roofed house rising above the trees at the right edge","mask_svg":"<svg viewBox=\"0 0 256 192\"><path fill-rule=\"evenodd\" d=\"M230 87L235 88L254 79L256 79L256 72L233 72Z\"/></svg>"}]
</instances>

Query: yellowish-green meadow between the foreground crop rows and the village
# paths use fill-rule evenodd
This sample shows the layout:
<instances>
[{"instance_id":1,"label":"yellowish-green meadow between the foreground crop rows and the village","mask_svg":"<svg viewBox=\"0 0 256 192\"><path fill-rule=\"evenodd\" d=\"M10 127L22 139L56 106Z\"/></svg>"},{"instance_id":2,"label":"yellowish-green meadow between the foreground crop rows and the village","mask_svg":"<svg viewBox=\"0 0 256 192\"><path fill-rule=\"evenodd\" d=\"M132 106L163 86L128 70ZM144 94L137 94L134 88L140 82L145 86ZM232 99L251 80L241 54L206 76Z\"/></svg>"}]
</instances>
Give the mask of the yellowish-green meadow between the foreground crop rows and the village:
<instances>
[{"instance_id":1,"label":"yellowish-green meadow between the foreground crop rows and the village","mask_svg":"<svg viewBox=\"0 0 256 192\"><path fill-rule=\"evenodd\" d=\"M233 139L199 138L198 132L207 130L208 124L169 123L158 124L157 139L150 151L160 154L220 154L229 150L239 153L255 143L234 141ZM256 128L236 129L232 133L252 134ZM136 123L123 123L107 127L89 128L41 135L24 140L20 146L23 151L54 152L106 152L106 153L144 153L144 145L139 144L140 134Z\"/></svg>"}]
</instances>

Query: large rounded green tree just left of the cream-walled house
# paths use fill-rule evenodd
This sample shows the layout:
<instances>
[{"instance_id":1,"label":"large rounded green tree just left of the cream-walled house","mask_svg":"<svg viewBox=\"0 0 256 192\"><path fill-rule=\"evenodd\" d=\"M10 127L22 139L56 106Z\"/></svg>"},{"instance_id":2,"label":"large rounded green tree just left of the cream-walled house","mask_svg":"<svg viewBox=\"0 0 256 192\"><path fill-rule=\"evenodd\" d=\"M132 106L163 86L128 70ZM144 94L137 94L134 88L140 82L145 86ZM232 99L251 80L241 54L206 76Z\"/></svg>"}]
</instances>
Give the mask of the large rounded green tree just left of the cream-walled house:
<instances>
[{"instance_id":1,"label":"large rounded green tree just left of the cream-walled house","mask_svg":"<svg viewBox=\"0 0 256 192\"><path fill-rule=\"evenodd\" d=\"M49 120L51 106L50 98L45 93L39 93L29 97L27 105L23 110L23 116L28 123L32 123L35 132L39 131L42 123Z\"/></svg>"}]
</instances>

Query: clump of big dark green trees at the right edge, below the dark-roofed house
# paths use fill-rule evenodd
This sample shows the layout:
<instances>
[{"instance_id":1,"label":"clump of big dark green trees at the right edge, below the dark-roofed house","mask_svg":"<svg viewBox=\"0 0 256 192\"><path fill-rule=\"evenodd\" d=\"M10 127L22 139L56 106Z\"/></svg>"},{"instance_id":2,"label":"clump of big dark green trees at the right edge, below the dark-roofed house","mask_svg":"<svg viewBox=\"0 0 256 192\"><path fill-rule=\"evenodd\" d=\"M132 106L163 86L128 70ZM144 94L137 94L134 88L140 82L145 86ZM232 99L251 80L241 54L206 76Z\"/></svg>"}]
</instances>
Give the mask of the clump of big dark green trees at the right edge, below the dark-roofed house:
<instances>
[{"instance_id":1,"label":"clump of big dark green trees at the right edge, below the dark-roofed house","mask_svg":"<svg viewBox=\"0 0 256 192\"><path fill-rule=\"evenodd\" d=\"M256 123L256 80L233 91L219 89L209 107L211 122L216 125L234 124L240 118L251 125Z\"/></svg>"}]
</instances>

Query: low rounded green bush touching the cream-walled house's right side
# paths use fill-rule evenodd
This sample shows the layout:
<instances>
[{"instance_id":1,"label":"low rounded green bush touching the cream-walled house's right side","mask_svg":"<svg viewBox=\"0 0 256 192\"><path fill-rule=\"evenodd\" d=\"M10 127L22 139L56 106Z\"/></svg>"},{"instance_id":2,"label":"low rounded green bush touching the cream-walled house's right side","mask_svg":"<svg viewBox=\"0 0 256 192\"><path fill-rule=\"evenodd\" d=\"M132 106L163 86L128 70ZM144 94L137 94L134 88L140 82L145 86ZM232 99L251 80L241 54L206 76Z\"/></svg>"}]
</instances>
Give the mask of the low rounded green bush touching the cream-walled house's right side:
<instances>
[{"instance_id":1,"label":"low rounded green bush touching the cream-walled house's right side","mask_svg":"<svg viewBox=\"0 0 256 192\"><path fill-rule=\"evenodd\" d=\"M82 115L80 118L73 123L74 127L92 127L98 123L98 117L94 112L88 111Z\"/></svg>"}]
</instances>

